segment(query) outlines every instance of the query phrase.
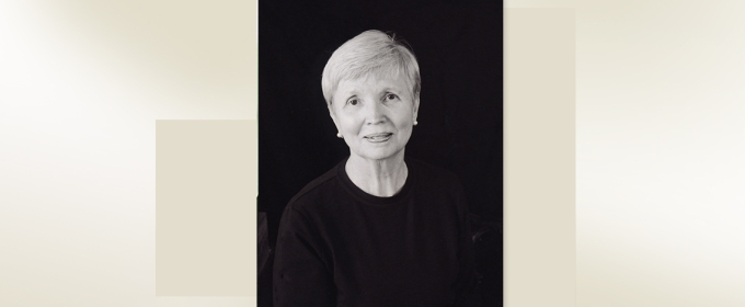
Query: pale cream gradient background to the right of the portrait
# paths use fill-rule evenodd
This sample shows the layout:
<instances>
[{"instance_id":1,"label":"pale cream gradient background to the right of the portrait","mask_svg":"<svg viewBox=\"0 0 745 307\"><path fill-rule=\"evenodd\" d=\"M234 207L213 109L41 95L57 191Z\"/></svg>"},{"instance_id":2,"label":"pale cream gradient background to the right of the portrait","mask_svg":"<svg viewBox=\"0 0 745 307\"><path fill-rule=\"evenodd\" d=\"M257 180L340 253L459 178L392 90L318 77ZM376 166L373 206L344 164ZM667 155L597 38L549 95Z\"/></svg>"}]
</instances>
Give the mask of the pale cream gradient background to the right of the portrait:
<instances>
[{"instance_id":1,"label":"pale cream gradient background to the right of the portrait","mask_svg":"<svg viewBox=\"0 0 745 307\"><path fill-rule=\"evenodd\" d=\"M506 5L575 11L576 306L745 306L745 4Z\"/></svg>"}]
</instances>

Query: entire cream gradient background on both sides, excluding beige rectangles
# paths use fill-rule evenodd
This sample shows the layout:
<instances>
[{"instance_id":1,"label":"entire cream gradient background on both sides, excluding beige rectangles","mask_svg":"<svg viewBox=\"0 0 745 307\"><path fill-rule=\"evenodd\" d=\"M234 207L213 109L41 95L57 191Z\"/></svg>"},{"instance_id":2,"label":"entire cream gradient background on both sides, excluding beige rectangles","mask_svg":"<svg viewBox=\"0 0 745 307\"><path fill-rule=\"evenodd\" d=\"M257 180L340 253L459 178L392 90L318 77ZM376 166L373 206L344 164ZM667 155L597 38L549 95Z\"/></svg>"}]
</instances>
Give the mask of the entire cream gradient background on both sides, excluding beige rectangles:
<instances>
[{"instance_id":1,"label":"entire cream gradient background on both sides, excluding beige rectangles","mask_svg":"<svg viewBox=\"0 0 745 307\"><path fill-rule=\"evenodd\" d=\"M553 245L576 245L576 306L745 305L745 4L506 5L574 10L576 232ZM254 15L252 1L0 1L0 306L252 306L156 296L154 147L157 120L255 120ZM549 248L518 223L505 239ZM535 297L511 307L571 287L525 274L536 283L506 287Z\"/></svg>"}]
</instances>

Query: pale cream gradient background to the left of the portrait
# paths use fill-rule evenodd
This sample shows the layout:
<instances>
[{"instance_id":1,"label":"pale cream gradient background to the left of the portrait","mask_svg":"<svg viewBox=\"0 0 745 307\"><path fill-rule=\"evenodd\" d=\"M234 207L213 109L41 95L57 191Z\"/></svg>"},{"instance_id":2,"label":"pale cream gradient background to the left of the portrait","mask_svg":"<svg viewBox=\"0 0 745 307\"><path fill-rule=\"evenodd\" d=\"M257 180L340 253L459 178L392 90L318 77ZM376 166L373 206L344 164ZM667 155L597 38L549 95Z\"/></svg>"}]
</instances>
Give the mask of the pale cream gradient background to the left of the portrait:
<instances>
[{"instance_id":1,"label":"pale cream gradient background to the left of the portrait","mask_svg":"<svg viewBox=\"0 0 745 307\"><path fill-rule=\"evenodd\" d=\"M254 304L156 296L156 121L255 120L255 8L0 1L0 306Z\"/></svg>"}]
</instances>

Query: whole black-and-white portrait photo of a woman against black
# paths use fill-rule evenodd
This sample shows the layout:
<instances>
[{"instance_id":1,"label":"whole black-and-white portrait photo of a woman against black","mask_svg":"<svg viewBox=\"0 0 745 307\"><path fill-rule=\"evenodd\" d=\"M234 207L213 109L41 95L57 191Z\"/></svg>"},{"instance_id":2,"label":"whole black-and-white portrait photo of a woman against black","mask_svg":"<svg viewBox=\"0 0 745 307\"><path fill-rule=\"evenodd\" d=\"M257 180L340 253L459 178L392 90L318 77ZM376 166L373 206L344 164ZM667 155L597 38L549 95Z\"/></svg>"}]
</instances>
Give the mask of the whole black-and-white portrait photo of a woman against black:
<instances>
[{"instance_id":1,"label":"whole black-and-white portrait photo of a woman against black","mask_svg":"<svg viewBox=\"0 0 745 307\"><path fill-rule=\"evenodd\" d=\"M501 306L502 2L259 16L259 306Z\"/></svg>"}]
</instances>

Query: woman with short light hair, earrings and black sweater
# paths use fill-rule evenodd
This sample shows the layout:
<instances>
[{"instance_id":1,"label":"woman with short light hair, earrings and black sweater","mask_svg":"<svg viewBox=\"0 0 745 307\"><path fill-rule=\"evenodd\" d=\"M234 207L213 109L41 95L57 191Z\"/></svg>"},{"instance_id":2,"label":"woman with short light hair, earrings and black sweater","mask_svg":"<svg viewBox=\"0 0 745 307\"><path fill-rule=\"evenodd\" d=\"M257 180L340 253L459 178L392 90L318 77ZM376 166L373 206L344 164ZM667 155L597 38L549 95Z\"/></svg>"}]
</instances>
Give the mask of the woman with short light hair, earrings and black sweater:
<instances>
[{"instance_id":1,"label":"woman with short light hair, earrings and black sweater","mask_svg":"<svg viewBox=\"0 0 745 307\"><path fill-rule=\"evenodd\" d=\"M472 282L463 191L404 156L420 106L413 54L364 32L333 53L321 86L349 157L285 208L274 305L462 305Z\"/></svg>"}]
</instances>

